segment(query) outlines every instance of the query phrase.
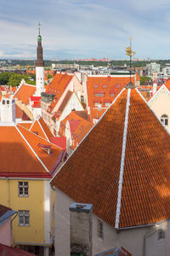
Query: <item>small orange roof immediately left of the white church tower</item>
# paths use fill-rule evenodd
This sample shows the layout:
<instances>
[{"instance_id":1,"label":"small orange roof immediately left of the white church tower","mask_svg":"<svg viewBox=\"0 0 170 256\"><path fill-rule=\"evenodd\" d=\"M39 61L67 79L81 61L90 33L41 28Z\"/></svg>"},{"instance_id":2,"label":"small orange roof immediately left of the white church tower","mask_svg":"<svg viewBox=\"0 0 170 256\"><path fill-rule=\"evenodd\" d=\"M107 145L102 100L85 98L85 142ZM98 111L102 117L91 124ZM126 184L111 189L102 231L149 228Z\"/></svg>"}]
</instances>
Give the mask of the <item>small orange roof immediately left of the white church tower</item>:
<instances>
[{"instance_id":1,"label":"small orange roof immediately left of the white church tower","mask_svg":"<svg viewBox=\"0 0 170 256\"><path fill-rule=\"evenodd\" d=\"M14 95L14 98L18 98L21 102L26 105L29 102L29 98L35 93L36 86L30 84L22 84L20 89Z\"/></svg>"}]
</instances>

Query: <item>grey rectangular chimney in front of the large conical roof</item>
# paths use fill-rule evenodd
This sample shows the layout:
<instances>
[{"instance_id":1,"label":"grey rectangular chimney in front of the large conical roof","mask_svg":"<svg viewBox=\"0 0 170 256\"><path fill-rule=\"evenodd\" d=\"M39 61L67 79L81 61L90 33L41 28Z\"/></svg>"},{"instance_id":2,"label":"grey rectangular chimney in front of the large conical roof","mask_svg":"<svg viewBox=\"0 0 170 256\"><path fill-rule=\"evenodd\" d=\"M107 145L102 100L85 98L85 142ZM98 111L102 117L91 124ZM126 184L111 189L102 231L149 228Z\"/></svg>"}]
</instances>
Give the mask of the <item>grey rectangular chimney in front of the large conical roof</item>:
<instances>
[{"instance_id":1,"label":"grey rectangular chimney in front of the large conical roof","mask_svg":"<svg viewBox=\"0 0 170 256\"><path fill-rule=\"evenodd\" d=\"M71 204L71 253L92 256L92 208L91 204Z\"/></svg>"}]
</instances>

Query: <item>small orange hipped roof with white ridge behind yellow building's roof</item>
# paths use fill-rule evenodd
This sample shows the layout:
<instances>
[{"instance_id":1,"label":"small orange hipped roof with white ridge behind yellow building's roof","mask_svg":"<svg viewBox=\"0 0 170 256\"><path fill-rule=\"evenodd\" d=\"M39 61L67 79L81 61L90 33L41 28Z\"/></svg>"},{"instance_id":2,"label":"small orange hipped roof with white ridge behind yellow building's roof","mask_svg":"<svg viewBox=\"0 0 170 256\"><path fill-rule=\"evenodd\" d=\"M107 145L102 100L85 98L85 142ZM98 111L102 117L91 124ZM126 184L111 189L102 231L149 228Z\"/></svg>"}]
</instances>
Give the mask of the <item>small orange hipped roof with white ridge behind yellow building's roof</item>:
<instances>
[{"instance_id":1,"label":"small orange hipped roof with white ridge behind yellow building's roof","mask_svg":"<svg viewBox=\"0 0 170 256\"><path fill-rule=\"evenodd\" d=\"M36 131L40 137L43 137L48 141L50 137L53 137L52 132L49 130L48 125L46 125L41 116L37 116L37 119L31 125L30 131Z\"/></svg>"}]
</instances>

